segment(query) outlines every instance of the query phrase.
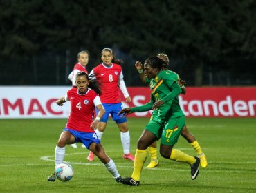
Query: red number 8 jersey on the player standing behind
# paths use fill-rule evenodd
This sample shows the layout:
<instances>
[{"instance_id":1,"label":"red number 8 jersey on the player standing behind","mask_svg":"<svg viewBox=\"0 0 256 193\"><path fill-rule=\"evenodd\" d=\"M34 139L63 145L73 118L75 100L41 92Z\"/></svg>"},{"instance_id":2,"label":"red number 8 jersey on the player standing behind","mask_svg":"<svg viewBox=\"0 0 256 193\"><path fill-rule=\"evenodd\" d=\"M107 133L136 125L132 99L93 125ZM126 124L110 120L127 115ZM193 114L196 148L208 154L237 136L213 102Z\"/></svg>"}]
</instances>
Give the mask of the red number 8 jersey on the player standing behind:
<instances>
[{"instance_id":1,"label":"red number 8 jersey on the player standing behind","mask_svg":"<svg viewBox=\"0 0 256 193\"><path fill-rule=\"evenodd\" d=\"M123 78L122 67L116 63L112 63L111 67L101 63L93 68L92 73L95 74L96 79L102 84L100 101L102 103L120 103L121 97L118 91L118 80Z\"/></svg>"}]
</instances>

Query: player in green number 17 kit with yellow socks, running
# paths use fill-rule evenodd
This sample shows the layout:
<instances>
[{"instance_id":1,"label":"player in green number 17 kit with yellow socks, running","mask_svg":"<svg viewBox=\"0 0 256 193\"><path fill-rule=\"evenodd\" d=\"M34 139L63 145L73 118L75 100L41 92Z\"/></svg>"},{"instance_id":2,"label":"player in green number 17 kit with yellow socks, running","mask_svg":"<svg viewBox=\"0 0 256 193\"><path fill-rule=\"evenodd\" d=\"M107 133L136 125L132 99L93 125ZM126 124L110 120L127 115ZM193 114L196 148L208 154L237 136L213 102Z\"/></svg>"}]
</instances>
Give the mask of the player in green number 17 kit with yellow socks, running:
<instances>
[{"instance_id":1,"label":"player in green number 17 kit with yellow socks, running","mask_svg":"<svg viewBox=\"0 0 256 193\"><path fill-rule=\"evenodd\" d=\"M163 60L158 57L149 57L144 63L144 73L151 80L150 102L140 107L125 108L120 111L120 114L127 115L132 112L153 110L152 119L138 139L134 172L131 177L123 179L126 185L139 185L140 172L147 157L147 148L158 139L161 139L161 156L165 159L190 164L192 180L196 179L199 174L200 159L198 157L173 149L185 125L185 116L178 100L181 87L174 78L168 75L169 72L162 69Z\"/></svg>"}]
</instances>

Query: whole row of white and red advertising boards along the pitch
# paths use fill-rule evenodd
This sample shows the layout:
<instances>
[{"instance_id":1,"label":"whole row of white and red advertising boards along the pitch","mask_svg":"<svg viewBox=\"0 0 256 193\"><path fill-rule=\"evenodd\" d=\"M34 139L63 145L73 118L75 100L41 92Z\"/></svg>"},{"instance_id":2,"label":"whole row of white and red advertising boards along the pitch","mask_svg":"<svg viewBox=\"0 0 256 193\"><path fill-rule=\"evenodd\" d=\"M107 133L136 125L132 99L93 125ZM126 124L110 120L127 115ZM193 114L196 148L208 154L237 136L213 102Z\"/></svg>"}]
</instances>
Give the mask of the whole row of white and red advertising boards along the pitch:
<instances>
[{"instance_id":1,"label":"whole row of white and red advertising boards along the pitch","mask_svg":"<svg viewBox=\"0 0 256 193\"><path fill-rule=\"evenodd\" d=\"M70 104L57 106L55 101L70 87L0 86L0 119L2 118L67 118ZM150 100L147 87L127 88L132 102L125 106L143 105ZM188 117L255 117L256 87L187 88L179 95L181 108ZM137 112L129 117L151 116Z\"/></svg>"}]
</instances>

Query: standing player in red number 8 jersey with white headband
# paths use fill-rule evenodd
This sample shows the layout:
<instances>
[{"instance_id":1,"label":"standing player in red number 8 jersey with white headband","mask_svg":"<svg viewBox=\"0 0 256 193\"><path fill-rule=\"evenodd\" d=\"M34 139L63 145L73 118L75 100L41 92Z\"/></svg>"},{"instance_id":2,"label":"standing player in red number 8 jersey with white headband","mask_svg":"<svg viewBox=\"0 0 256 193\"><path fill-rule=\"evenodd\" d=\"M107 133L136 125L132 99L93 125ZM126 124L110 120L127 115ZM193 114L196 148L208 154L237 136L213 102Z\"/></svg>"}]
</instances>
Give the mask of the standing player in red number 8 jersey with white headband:
<instances>
[{"instance_id":1,"label":"standing player in red number 8 jersey with white headband","mask_svg":"<svg viewBox=\"0 0 256 193\"><path fill-rule=\"evenodd\" d=\"M109 114L111 114L113 121L116 121L120 130L120 136L123 148L123 158L134 161L134 156L130 152L130 134L127 126L127 118L118 115L122 109L120 92L118 87L124 94L126 102L131 102L131 97L127 92L125 81L123 80L121 61L115 58L111 48L104 48L101 52L102 63L93 68L90 74L95 74L95 79L102 84L102 94L100 100L106 110L106 113L100 119L96 134L99 139L102 139L102 134L107 126ZM89 161L93 161L93 153L90 152L87 157Z\"/></svg>"}]
</instances>

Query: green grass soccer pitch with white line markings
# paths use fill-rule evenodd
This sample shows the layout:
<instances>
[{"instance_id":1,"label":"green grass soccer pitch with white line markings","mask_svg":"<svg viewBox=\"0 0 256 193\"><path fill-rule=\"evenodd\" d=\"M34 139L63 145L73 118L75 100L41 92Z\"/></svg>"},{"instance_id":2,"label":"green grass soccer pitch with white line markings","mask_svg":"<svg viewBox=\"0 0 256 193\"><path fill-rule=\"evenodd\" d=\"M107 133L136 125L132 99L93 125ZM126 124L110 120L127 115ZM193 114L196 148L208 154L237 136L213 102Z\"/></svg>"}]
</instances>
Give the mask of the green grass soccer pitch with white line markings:
<instances>
[{"instance_id":1,"label":"green grass soccer pitch with white line markings","mask_svg":"<svg viewBox=\"0 0 256 193\"><path fill-rule=\"evenodd\" d=\"M147 118L129 118L131 152ZM256 192L256 119L187 119L188 129L208 158L208 167L190 179L190 166L161 158L154 170L143 168L139 187L116 183L88 150L66 148L65 161L73 165L71 181L48 182L54 169L55 145L66 119L0 119L0 192ZM120 132L113 121L102 137L107 154L122 176L130 176L131 161L122 159ZM196 155L179 139L176 148ZM147 159L145 165L149 163Z\"/></svg>"}]
</instances>

